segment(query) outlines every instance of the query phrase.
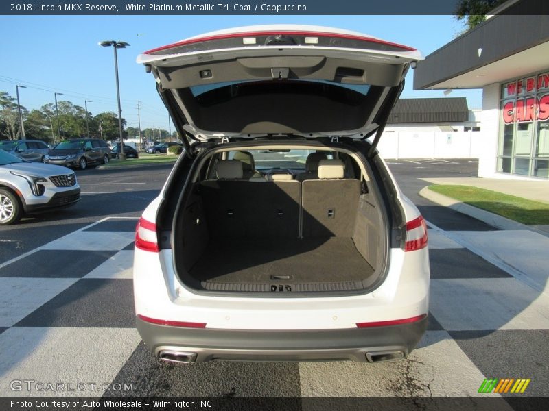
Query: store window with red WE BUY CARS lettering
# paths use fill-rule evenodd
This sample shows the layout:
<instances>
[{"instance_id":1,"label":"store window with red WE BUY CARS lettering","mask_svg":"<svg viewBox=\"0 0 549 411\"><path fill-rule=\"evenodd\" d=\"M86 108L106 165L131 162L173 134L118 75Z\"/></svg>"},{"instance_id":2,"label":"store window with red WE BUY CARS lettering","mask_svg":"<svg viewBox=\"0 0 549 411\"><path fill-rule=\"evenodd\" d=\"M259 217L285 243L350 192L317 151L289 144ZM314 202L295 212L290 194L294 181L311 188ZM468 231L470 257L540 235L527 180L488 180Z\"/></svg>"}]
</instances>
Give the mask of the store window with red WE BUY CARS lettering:
<instances>
[{"instance_id":1,"label":"store window with red WE BUY CARS lettering","mask_svg":"<svg viewBox=\"0 0 549 411\"><path fill-rule=\"evenodd\" d=\"M549 177L549 71L502 84L498 171Z\"/></svg>"}]
</instances>

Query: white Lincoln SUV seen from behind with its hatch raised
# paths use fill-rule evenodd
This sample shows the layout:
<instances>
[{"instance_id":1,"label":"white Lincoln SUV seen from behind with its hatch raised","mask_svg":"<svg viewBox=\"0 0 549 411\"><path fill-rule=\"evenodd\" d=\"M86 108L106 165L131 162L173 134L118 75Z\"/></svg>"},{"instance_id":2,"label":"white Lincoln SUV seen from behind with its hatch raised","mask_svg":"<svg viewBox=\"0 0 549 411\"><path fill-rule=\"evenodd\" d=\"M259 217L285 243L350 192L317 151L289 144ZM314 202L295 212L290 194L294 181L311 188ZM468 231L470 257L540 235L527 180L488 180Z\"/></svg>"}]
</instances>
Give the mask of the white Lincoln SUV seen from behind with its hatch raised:
<instances>
[{"instance_id":1,"label":"white Lincoln SUV seen from behind with its hatch raised","mask_svg":"<svg viewBox=\"0 0 549 411\"><path fill-rule=\"evenodd\" d=\"M410 47L261 26L139 55L185 143L135 238L137 328L163 360L405 357L427 227L375 149Z\"/></svg>"}]
</instances>

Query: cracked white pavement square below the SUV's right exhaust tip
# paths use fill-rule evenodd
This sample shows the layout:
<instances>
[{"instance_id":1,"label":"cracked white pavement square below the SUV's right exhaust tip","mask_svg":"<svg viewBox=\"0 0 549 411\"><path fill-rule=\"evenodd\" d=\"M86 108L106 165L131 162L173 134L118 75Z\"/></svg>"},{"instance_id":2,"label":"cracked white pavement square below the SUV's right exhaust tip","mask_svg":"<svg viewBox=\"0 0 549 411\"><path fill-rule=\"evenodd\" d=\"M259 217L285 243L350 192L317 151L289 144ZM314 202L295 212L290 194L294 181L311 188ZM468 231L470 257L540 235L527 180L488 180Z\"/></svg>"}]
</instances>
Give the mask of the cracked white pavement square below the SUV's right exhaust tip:
<instances>
[{"instance_id":1,"label":"cracked white pavement square below the SUV's right exhaust tip","mask_svg":"<svg viewBox=\"0 0 549 411\"><path fill-rule=\"evenodd\" d=\"M445 331L428 331L406 360L301 362L301 395L334 397L474 396L484 375ZM447 378L441 377L443 375ZM449 377L451 376L451 377ZM483 396L485 394L482 394ZM504 404L502 404L502 409Z\"/></svg>"}]
</instances>

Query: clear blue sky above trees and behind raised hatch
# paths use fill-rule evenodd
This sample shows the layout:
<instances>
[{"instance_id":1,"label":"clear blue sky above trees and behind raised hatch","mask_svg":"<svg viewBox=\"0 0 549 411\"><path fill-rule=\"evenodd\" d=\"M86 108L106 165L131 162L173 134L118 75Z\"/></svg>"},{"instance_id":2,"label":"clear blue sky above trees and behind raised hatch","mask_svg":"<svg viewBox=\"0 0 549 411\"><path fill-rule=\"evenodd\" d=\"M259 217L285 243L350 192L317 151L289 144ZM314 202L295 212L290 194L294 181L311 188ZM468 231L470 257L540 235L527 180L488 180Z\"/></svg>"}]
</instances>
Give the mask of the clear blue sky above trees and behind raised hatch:
<instances>
[{"instance_id":1,"label":"clear blue sky above trees and behind raised hatch","mask_svg":"<svg viewBox=\"0 0 549 411\"><path fill-rule=\"evenodd\" d=\"M259 24L307 24L351 29L419 49L428 55L456 37L462 23L453 16L0 16L0 90L16 97L27 110L68 100L93 116L117 112L114 56L102 40L130 43L118 49L122 117L141 129L169 129L169 117L154 87L152 75L135 62L143 51L218 29ZM412 88L406 77L401 98L444 97L443 90ZM469 108L480 108L481 90L453 90L448 97L467 97ZM172 131L174 130L171 125Z\"/></svg>"}]
</instances>

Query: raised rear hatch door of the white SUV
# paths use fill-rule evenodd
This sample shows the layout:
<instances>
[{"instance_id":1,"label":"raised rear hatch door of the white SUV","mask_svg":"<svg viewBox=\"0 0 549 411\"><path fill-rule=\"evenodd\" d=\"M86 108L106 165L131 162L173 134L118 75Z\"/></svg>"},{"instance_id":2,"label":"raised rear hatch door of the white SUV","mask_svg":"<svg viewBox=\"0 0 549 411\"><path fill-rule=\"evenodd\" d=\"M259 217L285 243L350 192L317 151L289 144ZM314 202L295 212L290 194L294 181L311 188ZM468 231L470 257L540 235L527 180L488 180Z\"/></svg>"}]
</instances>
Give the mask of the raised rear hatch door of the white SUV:
<instances>
[{"instance_id":1,"label":"raised rear hatch door of the white SUV","mask_svg":"<svg viewBox=\"0 0 549 411\"><path fill-rule=\"evenodd\" d=\"M276 25L187 38L137 62L154 75L189 149L259 137L367 138L383 128L421 58L357 32Z\"/></svg>"}]
</instances>

